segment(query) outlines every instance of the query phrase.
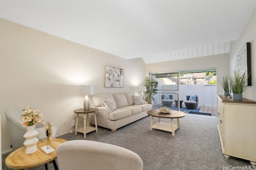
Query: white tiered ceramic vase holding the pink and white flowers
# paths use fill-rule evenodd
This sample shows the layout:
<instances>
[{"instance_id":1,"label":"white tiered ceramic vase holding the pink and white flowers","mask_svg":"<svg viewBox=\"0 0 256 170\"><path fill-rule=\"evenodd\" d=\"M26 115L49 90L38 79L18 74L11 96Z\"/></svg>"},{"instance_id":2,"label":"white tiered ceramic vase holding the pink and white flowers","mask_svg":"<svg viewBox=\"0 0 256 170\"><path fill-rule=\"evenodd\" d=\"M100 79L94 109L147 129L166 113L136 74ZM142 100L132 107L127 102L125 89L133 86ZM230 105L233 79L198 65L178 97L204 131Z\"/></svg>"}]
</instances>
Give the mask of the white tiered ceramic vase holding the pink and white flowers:
<instances>
[{"instance_id":1,"label":"white tiered ceramic vase holding the pink and white flowers","mask_svg":"<svg viewBox=\"0 0 256 170\"><path fill-rule=\"evenodd\" d=\"M38 138L36 137L38 135L38 132L35 130L36 126L26 126L27 132L23 135L23 137L26 139L23 143L26 147L25 154L31 154L36 152L37 150L37 142Z\"/></svg>"}]
</instances>

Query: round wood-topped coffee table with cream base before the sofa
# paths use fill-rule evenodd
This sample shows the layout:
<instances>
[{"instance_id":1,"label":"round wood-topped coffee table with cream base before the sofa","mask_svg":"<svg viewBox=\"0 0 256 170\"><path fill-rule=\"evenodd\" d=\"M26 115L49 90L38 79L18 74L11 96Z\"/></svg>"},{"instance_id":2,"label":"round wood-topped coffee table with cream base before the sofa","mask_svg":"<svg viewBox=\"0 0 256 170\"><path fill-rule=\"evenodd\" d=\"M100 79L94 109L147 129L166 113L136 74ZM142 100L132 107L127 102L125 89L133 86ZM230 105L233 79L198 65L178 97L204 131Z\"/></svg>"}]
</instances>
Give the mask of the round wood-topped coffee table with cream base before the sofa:
<instances>
[{"instance_id":1,"label":"round wood-topped coffee table with cream base before the sofa","mask_svg":"<svg viewBox=\"0 0 256 170\"><path fill-rule=\"evenodd\" d=\"M182 111L176 111L176 110L171 110L170 113L161 113L157 111L156 109L149 110L147 111L148 115L150 115L151 122L150 122L150 131L153 129L159 129L162 131L168 131L172 132L172 136L175 135L176 129L180 129L180 120L179 118L184 117L186 114ZM153 125L153 119L154 117L158 117L158 122ZM166 118L166 119L171 119L171 123L165 123L161 122L161 118ZM173 119L177 119L178 125L174 124Z\"/></svg>"}]
</instances>

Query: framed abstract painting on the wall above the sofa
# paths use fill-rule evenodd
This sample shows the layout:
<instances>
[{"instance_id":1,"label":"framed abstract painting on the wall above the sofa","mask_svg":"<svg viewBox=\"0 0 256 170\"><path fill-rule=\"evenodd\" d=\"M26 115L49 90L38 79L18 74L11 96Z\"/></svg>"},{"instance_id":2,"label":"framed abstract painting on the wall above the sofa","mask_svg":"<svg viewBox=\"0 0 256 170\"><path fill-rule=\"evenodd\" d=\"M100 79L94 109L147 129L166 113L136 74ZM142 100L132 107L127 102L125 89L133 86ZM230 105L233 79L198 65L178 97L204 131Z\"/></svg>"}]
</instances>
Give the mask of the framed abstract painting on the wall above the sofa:
<instances>
[{"instance_id":1,"label":"framed abstract painting on the wall above the sofa","mask_svg":"<svg viewBox=\"0 0 256 170\"><path fill-rule=\"evenodd\" d=\"M124 87L124 69L106 66L105 87Z\"/></svg>"}]
</instances>

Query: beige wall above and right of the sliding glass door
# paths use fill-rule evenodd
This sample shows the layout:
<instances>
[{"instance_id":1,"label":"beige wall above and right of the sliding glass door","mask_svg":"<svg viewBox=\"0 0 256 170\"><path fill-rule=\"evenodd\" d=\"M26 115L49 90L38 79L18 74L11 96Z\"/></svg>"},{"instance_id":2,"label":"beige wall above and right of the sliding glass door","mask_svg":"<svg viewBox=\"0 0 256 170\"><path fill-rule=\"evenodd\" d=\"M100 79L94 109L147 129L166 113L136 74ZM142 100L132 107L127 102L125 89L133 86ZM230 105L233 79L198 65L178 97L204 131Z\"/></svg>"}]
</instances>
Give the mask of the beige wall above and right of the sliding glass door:
<instances>
[{"instance_id":1,"label":"beige wall above and right of the sliding glass door","mask_svg":"<svg viewBox=\"0 0 256 170\"><path fill-rule=\"evenodd\" d=\"M146 64L146 75L148 75L148 73L199 70L204 68L216 68L217 82L220 82L221 77L229 72L229 55L223 54L164 63ZM220 83L217 84L217 94L223 93L224 91Z\"/></svg>"}]
</instances>

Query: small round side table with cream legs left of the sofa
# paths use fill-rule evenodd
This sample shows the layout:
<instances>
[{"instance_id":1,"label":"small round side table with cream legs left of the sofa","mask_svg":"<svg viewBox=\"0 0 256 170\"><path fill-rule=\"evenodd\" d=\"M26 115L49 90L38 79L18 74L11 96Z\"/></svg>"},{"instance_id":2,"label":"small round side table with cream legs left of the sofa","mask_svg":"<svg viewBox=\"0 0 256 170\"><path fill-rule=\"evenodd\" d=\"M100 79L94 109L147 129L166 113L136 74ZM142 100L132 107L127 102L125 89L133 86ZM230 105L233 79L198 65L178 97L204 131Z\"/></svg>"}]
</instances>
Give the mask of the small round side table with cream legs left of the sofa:
<instances>
[{"instance_id":1,"label":"small round side table with cream legs left of the sofa","mask_svg":"<svg viewBox=\"0 0 256 170\"><path fill-rule=\"evenodd\" d=\"M74 110L74 113L76 113L76 131L75 131L75 134L77 134L77 132L84 133L84 138L85 138L86 133L89 133L89 132L92 132L92 131L95 131L95 130L96 130L96 133L98 133L97 120L96 120L96 112L97 111L98 111L97 108L90 108L90 110L84 110L84 109ZM95 127L90 126L89 113L94 113ZM77 129L79 114L84 114L84 127L81 127L79 129Z\"/></svg>"}]
</instances>

